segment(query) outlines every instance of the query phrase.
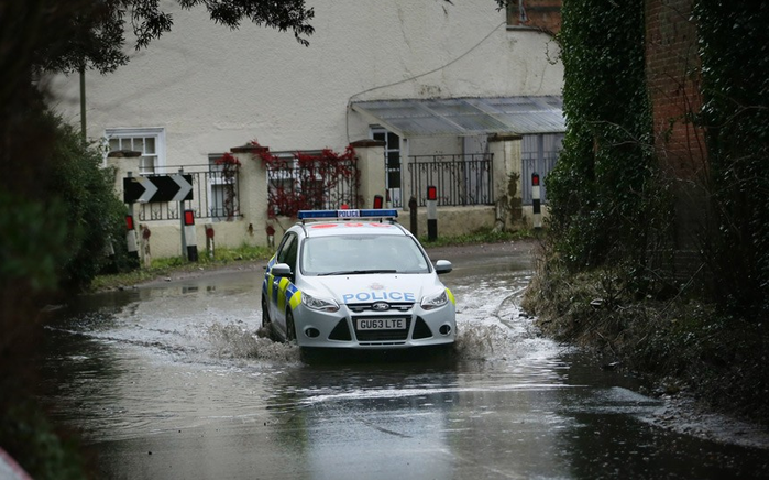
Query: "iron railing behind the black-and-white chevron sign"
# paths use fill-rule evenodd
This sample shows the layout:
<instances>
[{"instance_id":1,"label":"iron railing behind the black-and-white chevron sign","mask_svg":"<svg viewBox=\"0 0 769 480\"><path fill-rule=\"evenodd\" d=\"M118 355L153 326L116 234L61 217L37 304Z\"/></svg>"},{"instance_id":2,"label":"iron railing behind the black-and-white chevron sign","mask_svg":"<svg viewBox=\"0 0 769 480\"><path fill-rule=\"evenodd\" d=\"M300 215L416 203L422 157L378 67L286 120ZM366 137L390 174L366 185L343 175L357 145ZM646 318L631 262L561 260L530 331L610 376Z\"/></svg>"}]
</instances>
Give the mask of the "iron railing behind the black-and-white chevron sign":
<instances>
[{"instance_id":1,"label":"iron railing behind the black-and-white chevron sign","mask_svg":"<svg viewBox=\"0 0 769 480\"><path fill-rule=\"evenodd\" d=\"M166 174L184 173L193 177L193 199L182 203L183 210L195 211L195 217L210 221L227 221L240 218L239 172L226 172L220 165L165 166ZM160 176L161 174L144 175ZM179 203L158 201L134 204L139 221L179 220Z\"/></svg>"}]
</instances>

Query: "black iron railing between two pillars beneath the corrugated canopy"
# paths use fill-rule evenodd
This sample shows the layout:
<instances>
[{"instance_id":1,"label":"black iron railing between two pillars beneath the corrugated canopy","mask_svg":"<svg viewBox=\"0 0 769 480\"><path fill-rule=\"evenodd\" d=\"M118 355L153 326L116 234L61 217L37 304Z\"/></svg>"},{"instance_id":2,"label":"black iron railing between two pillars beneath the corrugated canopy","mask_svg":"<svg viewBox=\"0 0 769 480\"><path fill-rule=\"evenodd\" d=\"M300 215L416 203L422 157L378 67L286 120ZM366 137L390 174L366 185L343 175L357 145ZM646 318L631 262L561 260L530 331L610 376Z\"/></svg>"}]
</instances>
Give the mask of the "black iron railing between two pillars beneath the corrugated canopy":
<instances>
[{"instance_id":1,"label":"black iron railing between two pillars beneath the corrugated canopy","mask_svg":"<svg viewBox=\"0 0 769 480\"><path fill-rule=\"evenodd\" d=\"M408 175L411 195L425 206L427 187L438 188L439 206L494 205L491 153L413 155Z\"/></svg>"}]
</instances>

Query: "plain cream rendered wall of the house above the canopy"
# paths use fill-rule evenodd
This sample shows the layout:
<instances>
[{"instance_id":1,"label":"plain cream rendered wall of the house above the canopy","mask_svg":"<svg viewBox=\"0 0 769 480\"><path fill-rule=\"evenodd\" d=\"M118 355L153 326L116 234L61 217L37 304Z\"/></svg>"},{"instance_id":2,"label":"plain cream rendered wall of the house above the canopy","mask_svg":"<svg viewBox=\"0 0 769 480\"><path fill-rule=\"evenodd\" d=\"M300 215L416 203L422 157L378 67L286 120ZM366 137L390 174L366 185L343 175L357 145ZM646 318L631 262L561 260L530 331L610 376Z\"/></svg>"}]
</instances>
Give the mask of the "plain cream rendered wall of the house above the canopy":
<instances>
[{"instance_id":1,"label":"plain cream rendered wall of the house above the canopy","mask_svg":"<svg viewBox=\"0 0 769 480\"><path fill-rule=\"evenodd\" d=\"M507 31L494 0L309 3L309 47L292 33L251 24L230 31L205 10L175 11L172 32L132 51L127 66L87 73L89 137L162 127L168 165L202 164L250 140L274 151L341 151L369 134L367 122L348 112L350 101L561 94L553 40ZM73 124L78 81L55 83Z\"/></svg>"}]
</instances>

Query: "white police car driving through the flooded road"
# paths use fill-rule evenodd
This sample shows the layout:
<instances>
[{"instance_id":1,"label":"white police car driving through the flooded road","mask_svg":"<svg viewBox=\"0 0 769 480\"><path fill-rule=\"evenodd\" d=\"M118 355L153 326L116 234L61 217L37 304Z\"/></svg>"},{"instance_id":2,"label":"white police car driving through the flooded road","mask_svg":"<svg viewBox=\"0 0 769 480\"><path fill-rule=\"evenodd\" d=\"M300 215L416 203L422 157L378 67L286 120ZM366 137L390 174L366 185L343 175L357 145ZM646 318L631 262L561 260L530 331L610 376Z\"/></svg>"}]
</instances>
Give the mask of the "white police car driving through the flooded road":
<instances>
[{"instance_id":1,"label":"white police car driving through the flooded road","mask_svg":"<svg viewBox=\"0 0 769 480\"><path fill-rule=\"evenodd\" d=\"M455 302L397 210L303 210L270 260L262 326L299 347L451 345Z\"/></svg>"}]
</instances>

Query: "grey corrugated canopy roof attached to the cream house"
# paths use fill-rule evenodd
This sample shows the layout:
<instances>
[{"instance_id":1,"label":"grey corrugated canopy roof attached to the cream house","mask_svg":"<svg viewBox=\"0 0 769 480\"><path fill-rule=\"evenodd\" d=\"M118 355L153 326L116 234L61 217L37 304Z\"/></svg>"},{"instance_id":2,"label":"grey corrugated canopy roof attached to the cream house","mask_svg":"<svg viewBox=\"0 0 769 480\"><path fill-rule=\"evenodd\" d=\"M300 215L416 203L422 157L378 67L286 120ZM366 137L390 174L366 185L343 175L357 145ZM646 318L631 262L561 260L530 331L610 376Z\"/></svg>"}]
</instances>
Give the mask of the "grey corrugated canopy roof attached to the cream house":
<instances>
[{"instance_id":1,"label":"grey corrugated canopy roof attached to the cream house","mask_svg":"<svg viewBox=\"0 0 769 480\"><path fill-rule=\"evenodd\" d=\"M356 101L352 109L402 137L474 137L565 131L561 97Z\"/></svg>"}]
</instances>

